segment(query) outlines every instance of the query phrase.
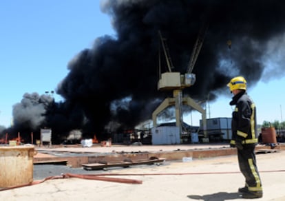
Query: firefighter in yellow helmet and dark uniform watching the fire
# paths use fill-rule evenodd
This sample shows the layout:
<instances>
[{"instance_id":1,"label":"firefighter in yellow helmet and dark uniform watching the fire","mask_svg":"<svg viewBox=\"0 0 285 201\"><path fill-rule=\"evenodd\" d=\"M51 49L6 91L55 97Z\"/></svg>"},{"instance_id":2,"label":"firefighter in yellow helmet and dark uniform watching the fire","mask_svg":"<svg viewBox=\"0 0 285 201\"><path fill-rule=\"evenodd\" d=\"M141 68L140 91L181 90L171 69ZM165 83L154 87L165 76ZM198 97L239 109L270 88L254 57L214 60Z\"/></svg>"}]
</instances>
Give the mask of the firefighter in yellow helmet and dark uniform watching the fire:
<instances>
[{"instance_id":1,"label":"firefighter in yellow helmet and dark uniform watching the fire","mask_svg":"<svg viewBox=\"0 0 285 201\"><path fill-rule=\"evenodd\" d=\"M262 182L255 159L255 146L258 142L255 104L246 94L244 77L232 78L227 86L233 94L230 105L235 105L230 145L237 148L238 164L245 178L245 186L238 191L242 193L242 198L262 198Z\"/></svg>"}]
</instances>

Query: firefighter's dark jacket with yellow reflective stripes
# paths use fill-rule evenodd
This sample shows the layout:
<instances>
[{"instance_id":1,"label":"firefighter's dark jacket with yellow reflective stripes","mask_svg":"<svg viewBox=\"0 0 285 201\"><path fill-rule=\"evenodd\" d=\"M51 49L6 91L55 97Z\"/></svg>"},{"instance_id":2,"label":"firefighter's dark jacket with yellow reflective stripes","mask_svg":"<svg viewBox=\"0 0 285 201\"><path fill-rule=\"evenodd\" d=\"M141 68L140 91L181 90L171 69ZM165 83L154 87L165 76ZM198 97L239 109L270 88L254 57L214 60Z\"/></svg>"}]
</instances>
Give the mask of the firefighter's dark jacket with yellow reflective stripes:
<instances>
[{"instance_id":1,"label":"firefighter's dark jacket with yellow reflective stripes","mask_svg":"<svg viewBox=\"0 0 285 201\"><path fill-rule=\"evenodd\" d=\"M231 121L231 145L235 145L237 140L242 145L257 144L256 109L253 100L242 90L233 96L230 105L235 105Z\"/></svg>"}]
</instances>

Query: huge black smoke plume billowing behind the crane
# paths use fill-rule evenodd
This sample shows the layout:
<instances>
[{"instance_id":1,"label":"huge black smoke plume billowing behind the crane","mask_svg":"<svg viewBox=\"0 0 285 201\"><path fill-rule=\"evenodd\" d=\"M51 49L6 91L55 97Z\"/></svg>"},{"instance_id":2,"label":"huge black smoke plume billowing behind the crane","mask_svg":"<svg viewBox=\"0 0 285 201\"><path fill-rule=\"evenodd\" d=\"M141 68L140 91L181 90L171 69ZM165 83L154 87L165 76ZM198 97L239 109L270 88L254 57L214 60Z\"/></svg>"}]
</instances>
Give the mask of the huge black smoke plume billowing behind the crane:
<instances>
[{"instance_id":1,"label":"huge black smoke plume billowing behind the crane","mask_svg":"<svg viewBox=\"0 0 285 201\"><path fill-rule=\"evenodd\" d=\"M50 127L57 136L72 129L103 138L106 125L129 129L151 113L171 92L158 92L158 30L167 39L173 71L184 73L198 32L209 24L193 73L195 85L184 95L203 101L220 92L226 83L243 75L253 87L260 80L273 50L284 40L285 1L109 0L101 9L112 19L115 36L95 39L70 61L56 93L25 94L14 105L10 132L39 131ZM92 26L92 25L90 25ZM162 59L164 60L164 59ZM281 61L280 61L281 62ZM162 70L167 70L165 61ZM271 73L284 72L275 65ZM283 68L283 69L282 69Z\"/></svg>"}]
</instances>

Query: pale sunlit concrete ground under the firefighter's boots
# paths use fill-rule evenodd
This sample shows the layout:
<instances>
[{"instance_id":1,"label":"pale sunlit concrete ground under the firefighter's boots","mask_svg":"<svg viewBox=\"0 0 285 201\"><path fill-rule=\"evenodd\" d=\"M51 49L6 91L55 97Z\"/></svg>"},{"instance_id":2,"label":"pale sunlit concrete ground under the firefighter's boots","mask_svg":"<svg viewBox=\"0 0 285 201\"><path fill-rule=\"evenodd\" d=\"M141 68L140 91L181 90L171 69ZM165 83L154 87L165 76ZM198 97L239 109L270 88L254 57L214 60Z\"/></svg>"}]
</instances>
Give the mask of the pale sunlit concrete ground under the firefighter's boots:
<instances>
[{"instance_id":1,"label":"pale sunlit concrete ground under the firefighter's boots","mask_svg":"<svg viewBox=\"0 0 285 201\"><path fill-rule=\"evenodd\" d=\"M112 151L116 148L102 149ZM138 150L138 147L134 150ZM285 200L285 151L257 154L257 166L264 189L264 197L257 200ZM78 169L76 173L119 174L105 177L127 178L142 183L126 184L80 178L55 179L28 187L0 191L0 200L244 200L241 194L237 193L237 188L244 185L244 178L238 169L236 156L194 158L188 162L173 160L165 161L160 166L140 165L107 171Z\"/></svg>"}]
</instances>

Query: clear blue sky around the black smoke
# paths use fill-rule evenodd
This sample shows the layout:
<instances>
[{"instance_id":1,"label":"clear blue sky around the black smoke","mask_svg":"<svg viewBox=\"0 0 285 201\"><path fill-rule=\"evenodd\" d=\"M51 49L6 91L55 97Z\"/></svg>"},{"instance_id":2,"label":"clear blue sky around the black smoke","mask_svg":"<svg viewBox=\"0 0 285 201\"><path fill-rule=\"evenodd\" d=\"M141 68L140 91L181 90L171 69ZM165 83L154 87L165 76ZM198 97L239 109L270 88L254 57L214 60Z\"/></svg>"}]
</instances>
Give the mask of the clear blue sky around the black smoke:
<instances>
[{"instance_id":1,"label":"clear blue sky around the black smoke","mask_svg":"<svg viewBox=\"0 0 285 201\"><path fill-rule=\"evenodd\" d=\"M100 3L99 0L1 1L0 125L10 126L12 105L19 103L23 94L54 90L67 75L67 64L78 52L91 48L98 36L114 35L110 18L101 12ZM270 54L268 65L281 63L278 59L282 53ZM264 120L285 119L284 73L270 74L265 72L255 86L248 81L260 124ZM61 100L56 94L54 98ZM209 103L207 117L230 117L233 109L230 100L231 94ZM200 114L193 112L192 120L190 115L184 120L198 125L200 118Z\"/></svg>"}]
</instances>

